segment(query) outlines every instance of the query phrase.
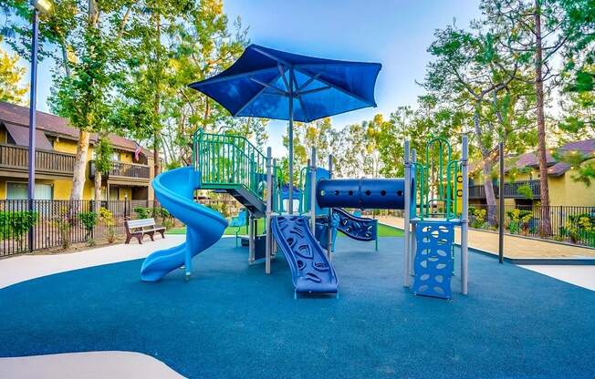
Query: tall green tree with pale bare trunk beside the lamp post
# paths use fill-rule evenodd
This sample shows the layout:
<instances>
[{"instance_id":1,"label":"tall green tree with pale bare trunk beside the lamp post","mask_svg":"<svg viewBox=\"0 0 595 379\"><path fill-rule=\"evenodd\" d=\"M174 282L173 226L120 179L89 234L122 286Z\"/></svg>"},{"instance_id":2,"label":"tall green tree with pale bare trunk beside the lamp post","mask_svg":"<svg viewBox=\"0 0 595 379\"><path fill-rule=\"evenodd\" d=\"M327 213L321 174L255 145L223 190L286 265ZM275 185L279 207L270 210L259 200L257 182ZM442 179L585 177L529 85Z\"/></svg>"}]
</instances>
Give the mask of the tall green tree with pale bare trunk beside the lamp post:
<instances>
[{"instance_id":1,"label":"tall green tree with pale bare trunk beside the lamp post","mask_svg":"<svg viewBox=\"0 0 595 379\"><path fill-rule=\"evenodd\" d=\"M26 56L31 7L22 0L9 0L12 30L9 43ZM110 93L110 72L117 56L115 38L120 36L130 1L63 0L55 2L51 15L41 15L40 56L57 62L52 87L52 108L79 129L71 200L82 199L89 139L102 128ZM20 18L19 18L20 17Z\"/></svg>"}]
</instances>

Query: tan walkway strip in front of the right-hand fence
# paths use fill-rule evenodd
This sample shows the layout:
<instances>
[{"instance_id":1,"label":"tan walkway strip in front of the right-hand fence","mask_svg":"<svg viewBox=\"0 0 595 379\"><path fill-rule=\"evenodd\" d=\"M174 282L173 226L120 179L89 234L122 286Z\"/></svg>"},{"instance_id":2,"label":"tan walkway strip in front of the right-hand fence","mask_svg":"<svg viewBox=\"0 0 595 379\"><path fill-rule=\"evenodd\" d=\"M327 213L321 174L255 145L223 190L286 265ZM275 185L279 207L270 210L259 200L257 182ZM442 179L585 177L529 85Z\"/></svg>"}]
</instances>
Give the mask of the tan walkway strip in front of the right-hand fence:
<instances>
[{"instance_id":1,"label":"tan walkway strip in front of the right-hand fence","mask_svg":"<svg viewBox=\"0 0 595 379\"><path fill-rule=\"evenodd\" d=\"M402 218L381 217L379 220L384 224L403 229ZM454 233L455 241L459 241L461 230L455 228ZM469 230L469 247L497 255L498 235L489 231ZM595 258L595 249L505 234L504 256L506 258Z\"/></svg>"}]
</instances>

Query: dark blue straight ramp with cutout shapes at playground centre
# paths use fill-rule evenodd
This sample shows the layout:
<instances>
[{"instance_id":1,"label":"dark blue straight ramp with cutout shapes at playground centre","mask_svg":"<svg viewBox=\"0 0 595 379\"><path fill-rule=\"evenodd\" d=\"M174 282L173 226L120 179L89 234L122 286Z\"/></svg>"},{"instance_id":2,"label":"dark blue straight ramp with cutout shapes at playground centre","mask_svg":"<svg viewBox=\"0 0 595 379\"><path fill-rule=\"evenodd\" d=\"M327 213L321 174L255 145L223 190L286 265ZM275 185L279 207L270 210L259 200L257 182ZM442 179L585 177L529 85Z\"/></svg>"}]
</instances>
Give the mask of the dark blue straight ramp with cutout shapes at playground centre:
<instances>
[{"instance_id":1,"label":"dark blue straight ramp with cutout shapes at playground centre","mask_svg":"<svg viewBox=\"0 0 595 379\"><path fill-rule=\"evenodd\" d=\"M274 217L271 230L287 258L296 293L337 293L337 274L312 235L306 217Z\"/></svg>"}]
</instances>

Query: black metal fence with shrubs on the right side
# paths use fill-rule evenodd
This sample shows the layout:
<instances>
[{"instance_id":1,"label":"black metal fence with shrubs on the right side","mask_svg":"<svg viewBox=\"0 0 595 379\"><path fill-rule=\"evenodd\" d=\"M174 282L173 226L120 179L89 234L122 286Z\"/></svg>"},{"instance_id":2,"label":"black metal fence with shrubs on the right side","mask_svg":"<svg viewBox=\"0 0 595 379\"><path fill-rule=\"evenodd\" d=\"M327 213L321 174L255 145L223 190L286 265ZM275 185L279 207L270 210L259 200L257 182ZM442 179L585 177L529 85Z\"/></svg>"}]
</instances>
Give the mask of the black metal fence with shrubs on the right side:
<instances>
[{"instance_id":1,"label":"black metal fence with shrubs on the right side","mask_svg":"<svg viewBox=\"0 0 595 379\"><path fill-rule=\"evenodd\" d=\"M497 221L497 207L496 221ZM549 228L544 220L549 219ZM504 216L506 233L566 241L595 248L595 207L565 205L506 205ZM488 220L486 205L469 205L471 228L497 230Z\"/></svg>"}]
</instances>

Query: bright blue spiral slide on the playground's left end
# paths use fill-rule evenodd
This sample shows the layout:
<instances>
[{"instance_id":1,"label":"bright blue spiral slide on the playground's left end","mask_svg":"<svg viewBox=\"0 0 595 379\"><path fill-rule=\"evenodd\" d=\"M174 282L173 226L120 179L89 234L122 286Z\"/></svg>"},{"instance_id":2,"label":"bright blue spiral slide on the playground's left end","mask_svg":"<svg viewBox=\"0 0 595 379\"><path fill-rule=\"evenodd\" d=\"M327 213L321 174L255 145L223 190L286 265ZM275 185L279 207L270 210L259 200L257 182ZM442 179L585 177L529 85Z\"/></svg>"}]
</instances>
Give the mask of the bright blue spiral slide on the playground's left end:
<instances>
[{"instance_id":1,"label":"bright blue spiral slide on the playground's left end","mask_svg":"<svg viewBox=\"0 0 595 379\"><path fill-rule=\"evenodd\" d=\"M157 282L168 272L183 265L190 274L192 258L221 239L227 227L224 216L193 201L200 188L200 172L192 167L172 169L152 181L155 196L162 206L186 224L186 241L166 250L154 251L142 263L141 279Z\"/></svg>"}]
</instances>

